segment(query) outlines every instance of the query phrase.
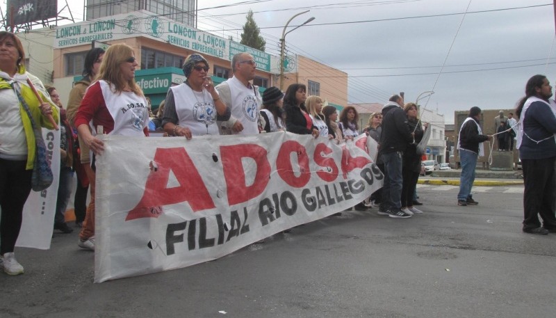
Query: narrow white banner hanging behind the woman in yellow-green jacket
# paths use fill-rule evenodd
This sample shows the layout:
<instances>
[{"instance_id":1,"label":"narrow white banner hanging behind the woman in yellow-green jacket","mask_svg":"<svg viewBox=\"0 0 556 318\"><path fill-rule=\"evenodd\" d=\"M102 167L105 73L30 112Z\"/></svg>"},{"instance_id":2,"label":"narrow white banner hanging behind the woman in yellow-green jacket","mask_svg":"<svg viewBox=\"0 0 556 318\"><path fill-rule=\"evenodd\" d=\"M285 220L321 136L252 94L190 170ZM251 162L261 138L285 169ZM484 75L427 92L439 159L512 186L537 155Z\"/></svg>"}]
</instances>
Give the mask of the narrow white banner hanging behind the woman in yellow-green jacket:
<instances>
[{"instance_id":1,"label":"narrow white banner hanging behind the woman in yellow-green jacket","mask_svg":"<svg viewBox=\"0 0 556 318\"><path fill-rule=\"evenodd\" d=\"M59 123L58 123L59 125ZM50 168L54 181L48 189L31 191L23 207L22 228L15 243L20 247L31 247L47 250L50 248L54 231L54 212L58 198L58 181L60 175L60 131L42 129L47 156L50 157Z\"/></svg>"}]
</instances>

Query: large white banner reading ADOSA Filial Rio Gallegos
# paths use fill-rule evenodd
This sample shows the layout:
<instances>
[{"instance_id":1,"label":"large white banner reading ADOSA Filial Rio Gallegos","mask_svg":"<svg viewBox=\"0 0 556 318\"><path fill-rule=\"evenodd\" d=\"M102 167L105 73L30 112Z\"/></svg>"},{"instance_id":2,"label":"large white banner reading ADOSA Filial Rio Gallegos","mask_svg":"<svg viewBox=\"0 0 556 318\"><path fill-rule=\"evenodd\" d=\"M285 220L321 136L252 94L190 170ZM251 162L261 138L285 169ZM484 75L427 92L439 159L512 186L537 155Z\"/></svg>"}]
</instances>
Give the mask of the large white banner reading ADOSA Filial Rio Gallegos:
<instances>
[{"instance_id":1,"label":"large white banner reading ADOSA Filial Rio Gallegos","mask_svg":"<svg viewBox=\"0 0 556 318\"><path fill-rule=\"evenodd\" d=\"M382 186L365 135L103 135L95 282L215 260L353 207Z\"/></svg>"}]
</instances>

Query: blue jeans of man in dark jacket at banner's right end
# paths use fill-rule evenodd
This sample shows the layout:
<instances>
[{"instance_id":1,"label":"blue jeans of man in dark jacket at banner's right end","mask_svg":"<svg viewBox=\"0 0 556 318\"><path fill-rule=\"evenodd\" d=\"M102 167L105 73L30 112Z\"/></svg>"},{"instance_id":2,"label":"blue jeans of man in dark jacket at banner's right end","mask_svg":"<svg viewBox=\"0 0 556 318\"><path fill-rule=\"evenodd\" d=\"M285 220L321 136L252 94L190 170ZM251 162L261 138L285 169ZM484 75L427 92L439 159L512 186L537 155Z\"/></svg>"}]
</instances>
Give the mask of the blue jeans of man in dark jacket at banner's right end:
<instances>
[{"instance_id":1,"label":"blue jeans of man in dark jacket at banner's right end","mask_svg":"<svg viewBox=\"0 0 556 318\"><path fill-rule=\"evenodd\" d=\"M402 152L382 154L384 162L384 186L382 186L382 203L386 208L402 207Z\"/></svg>"}]
</instances>

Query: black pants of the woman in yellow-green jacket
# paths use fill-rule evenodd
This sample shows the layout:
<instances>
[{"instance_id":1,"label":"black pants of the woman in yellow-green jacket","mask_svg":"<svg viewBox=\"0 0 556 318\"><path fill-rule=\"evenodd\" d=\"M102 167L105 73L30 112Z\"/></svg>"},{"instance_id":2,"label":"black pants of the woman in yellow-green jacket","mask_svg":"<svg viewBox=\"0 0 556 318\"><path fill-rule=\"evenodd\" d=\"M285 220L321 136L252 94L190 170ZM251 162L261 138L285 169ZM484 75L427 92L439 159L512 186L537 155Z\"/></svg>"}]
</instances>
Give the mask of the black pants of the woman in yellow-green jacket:
<instances>
[{"instance_id":1,"label":"black pants of the woman in yellow-green jacket","mask_svg":"<svg viewBox=\"0 0 556 318\"><path fill-rule=\"evenodd\" d=\"M0 159L0 255L12 253L22 228L23 206L31 192L26 161Z\"/></svg>"}]
</instances>

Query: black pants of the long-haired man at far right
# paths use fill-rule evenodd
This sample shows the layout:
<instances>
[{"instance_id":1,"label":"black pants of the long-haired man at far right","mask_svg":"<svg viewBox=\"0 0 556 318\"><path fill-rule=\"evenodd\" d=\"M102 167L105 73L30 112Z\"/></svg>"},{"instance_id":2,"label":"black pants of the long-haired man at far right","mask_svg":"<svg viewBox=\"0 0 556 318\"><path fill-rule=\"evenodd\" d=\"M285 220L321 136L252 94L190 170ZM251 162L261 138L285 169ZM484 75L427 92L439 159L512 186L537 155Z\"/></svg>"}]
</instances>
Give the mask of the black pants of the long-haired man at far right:
<instances>
[{"instance_id":1,"label":"black pants of the long-haired man at far right","mask_svg":"<svg viewBox=\"0 0 556 318\"><path fill-rule=\"evenodd\" d=\"M544 228L556 228L556 157L521 159L525 190L523 191L523 228L539 228L541 215Z\"/></svg>"}]
</instances>

